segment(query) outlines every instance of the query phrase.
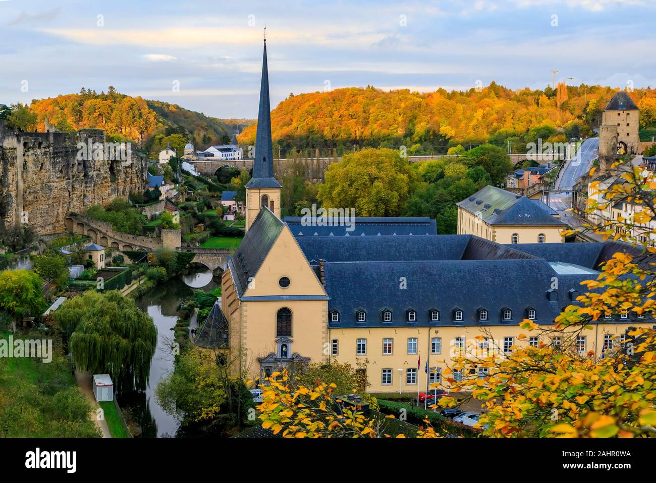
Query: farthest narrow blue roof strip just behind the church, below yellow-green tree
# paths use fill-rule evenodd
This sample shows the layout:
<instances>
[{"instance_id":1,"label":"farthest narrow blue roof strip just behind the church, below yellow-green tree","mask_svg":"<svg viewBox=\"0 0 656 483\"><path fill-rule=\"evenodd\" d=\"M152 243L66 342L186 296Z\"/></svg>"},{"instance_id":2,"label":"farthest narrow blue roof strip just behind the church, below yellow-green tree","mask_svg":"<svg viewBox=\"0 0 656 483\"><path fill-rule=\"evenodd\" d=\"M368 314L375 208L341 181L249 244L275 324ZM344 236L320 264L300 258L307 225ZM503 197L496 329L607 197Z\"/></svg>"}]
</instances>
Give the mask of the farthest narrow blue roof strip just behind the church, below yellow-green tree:
<instances>
[{"instance_id":1,"label":"farthest narrow blue roof strip just behind the church, below yellow-green tree","mask_svg":"<svg viewBox=\"0 0 656 483\"><path fill-rule=\"evenodd\" d=\"M373 218L356 217L350 227L345 225L304 225L300 216L285 216L284 220L293 235L300 237L360 237L371 235L436 235L437 225L430 218ZM354 228L347 231L347 228Z\"/></svg>"}]
</instances>

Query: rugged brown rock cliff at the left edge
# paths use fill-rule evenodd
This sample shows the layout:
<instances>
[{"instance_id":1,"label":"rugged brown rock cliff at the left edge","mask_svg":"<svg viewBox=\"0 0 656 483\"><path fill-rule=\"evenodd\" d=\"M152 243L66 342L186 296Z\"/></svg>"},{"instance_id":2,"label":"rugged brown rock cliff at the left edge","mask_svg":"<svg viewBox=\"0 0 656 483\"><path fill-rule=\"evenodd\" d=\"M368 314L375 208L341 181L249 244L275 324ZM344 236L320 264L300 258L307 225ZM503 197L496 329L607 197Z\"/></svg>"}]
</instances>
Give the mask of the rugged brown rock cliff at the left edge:
<instances>
[{"instance_id":1,"label":"rugged brown rock cliff at the left edge","mask_svg":"<svg viewBox=\"0 0 656 483\"><path fill-rule=\"evenodd\" d=\"M60 233L68 212L144 191L146 162L112 148L100 129L14 133L0 124L0 223Z\"/></svg>"}]
</instances>

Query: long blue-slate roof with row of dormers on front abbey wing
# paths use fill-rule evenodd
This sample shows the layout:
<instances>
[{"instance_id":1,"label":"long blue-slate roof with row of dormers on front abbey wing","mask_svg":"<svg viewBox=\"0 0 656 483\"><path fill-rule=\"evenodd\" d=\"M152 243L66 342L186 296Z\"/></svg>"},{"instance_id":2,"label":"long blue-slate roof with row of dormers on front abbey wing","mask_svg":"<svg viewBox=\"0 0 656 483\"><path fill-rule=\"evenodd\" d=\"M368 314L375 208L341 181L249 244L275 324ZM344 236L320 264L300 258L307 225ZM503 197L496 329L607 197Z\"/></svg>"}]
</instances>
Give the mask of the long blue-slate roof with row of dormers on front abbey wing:
<instances>
[{"instance_id":1,"label":"long blue-slate roof with row of dormers on front abbey wing","mask_svg":"<svg viewBox=\"0 0 656 483\"><path fill-rule=\"evenodd\" d=\"M339 312L330 327L427 327L453 325L517 325L528 308L536 321L552 323L564 306L572 304L568 290L583 291L581 281L590 274L558 274L543 259L437 260L411 262L325 263L325 288L329 311ZM407 288L400 288L405 277ZM547 292L552 277L558 277L558 300ZM512 311L512 321L502 321L502 310ZM455 321L454 311L463 311ZM488 321L478 321L478 310L488 311ZM356 313L367 313L358 323ZM392 322L382 321L382 311L392 311ZM407 311L417 312L417 321L407 322ZM440 321L430 321L430 311L440 312ZM330 320L330 319L329 319ZM403 350L403 348L398 348Z\"/></svg>"}]
</instances>

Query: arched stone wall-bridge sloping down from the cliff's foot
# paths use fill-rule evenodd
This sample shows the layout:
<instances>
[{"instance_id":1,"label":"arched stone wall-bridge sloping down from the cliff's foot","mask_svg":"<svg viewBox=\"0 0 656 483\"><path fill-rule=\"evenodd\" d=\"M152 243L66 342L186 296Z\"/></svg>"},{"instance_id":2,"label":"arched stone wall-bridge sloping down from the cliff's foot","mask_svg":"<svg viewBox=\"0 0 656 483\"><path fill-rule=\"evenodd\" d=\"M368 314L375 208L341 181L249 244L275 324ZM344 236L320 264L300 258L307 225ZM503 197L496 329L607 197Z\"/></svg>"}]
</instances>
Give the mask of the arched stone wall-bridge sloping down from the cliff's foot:
<instances>
[{"instance_id":1,"label":"arched stone wall-bridge sloping down from the cliff's foot","mask_svg":"<svg viewBox=\"0 0 656 483\"><path fill-rule=\"evenodd\" d=\"M142 250L152 252L166 246L175 249L180 246L180 230L162 230L161 237L142 237L114 231L110 223L89 218L88 216L69 213L64 219L66 231L87 235L91 241L115 250Z\"/></svg>"}]
</instances>

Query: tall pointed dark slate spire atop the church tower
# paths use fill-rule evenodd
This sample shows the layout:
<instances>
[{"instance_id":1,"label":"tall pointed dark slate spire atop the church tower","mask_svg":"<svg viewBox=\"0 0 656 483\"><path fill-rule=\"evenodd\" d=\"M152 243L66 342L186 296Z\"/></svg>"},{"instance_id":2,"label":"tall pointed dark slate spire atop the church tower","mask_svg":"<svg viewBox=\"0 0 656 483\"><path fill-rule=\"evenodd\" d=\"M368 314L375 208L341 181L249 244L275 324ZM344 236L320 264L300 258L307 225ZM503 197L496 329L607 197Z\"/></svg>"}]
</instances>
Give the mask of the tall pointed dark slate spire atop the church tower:
<instances>
[{"instance_id":1,"label":"tall pointed dark slate spire atop the church tower","mask_svg":"<svg viewBox=\"0 0 656 483\"><path fill-rule=\"evenodd\" d=\"M258 181L254 181L258 179ZM255 186L256 185L256 186ZM257 116L255 137L255 160L253 179L246 187L279 188L274 178L274 150L271 142L271 104L269 102L269 71L266 64L266 39L262 57L262 83L260 85L260 110Z\"/></svg>"}]
</instances>

